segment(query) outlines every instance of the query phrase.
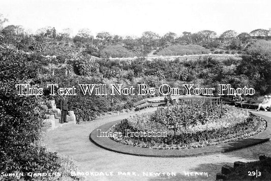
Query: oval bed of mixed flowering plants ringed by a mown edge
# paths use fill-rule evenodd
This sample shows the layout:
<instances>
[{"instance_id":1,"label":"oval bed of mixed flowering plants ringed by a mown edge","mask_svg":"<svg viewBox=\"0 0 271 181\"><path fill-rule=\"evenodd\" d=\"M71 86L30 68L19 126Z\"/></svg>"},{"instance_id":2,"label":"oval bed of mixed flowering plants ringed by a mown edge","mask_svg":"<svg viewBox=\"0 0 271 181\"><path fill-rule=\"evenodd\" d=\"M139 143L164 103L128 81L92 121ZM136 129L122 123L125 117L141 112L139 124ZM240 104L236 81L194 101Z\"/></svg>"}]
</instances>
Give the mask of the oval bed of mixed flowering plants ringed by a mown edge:
<instances>
[{"instance_id":1,"label":"oval bed of mixed flowering plants ringed by a mown edge","mask_svg":"<svg viewBox=\"0 0 271 181\"><path fill-rule=\"evenodd\" d=\"M154 113L123 119L110 132L122 132L121 137L110 137L116 142L153 149L185 149L215 145L244 139L263 131L264 119L244 109L229 105L206 105L182 111L158 109ZM217 112L219 111L219 113ZM166 132L166 137L127 135L131 132Z\"/></svg>"}]
</instances>

